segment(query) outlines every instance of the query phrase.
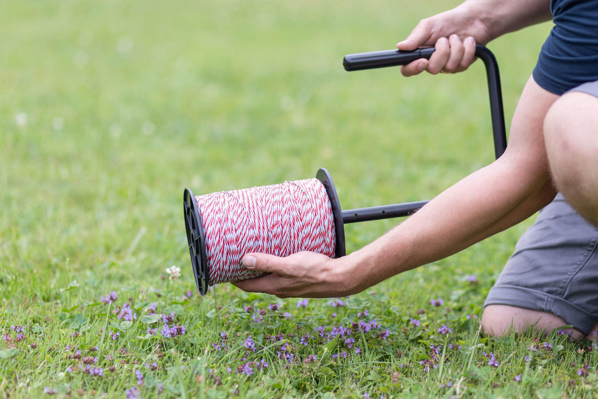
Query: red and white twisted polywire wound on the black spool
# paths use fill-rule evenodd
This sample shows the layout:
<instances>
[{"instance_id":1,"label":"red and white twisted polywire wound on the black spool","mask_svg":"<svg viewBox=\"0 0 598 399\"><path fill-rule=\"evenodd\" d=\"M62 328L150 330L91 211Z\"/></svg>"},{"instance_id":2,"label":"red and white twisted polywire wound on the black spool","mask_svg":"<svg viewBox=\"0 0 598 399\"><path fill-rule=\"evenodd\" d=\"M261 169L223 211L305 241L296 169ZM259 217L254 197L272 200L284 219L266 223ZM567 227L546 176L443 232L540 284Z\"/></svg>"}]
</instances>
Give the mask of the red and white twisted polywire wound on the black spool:
<instances>
[{"instance_id":1,"label":"red and white twisted polywire wound on the black spool","mask_svg":"<svg viewBox=\"0 0 598 399\"><path fill-rule=\"evenodd\" d=\"M334 257L336 234L328 194L318 179L196 196L202 215L209 285L263 275L242 266L249 252Z\"/></svg>"}]
</instances>

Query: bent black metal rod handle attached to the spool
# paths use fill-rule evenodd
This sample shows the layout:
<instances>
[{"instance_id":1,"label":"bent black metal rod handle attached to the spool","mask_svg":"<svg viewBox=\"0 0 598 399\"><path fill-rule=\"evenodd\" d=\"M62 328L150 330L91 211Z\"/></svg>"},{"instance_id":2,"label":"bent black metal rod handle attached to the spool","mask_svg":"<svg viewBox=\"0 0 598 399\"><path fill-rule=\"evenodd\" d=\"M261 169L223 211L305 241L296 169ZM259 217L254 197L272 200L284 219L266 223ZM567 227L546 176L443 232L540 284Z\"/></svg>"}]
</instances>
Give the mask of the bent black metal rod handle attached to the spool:
<instances>
[{"instance_id":1,"label":"bent black metal rod handle attached to the spool","mask_svg":"<svg viewBox=\"0 0 598 399\"><path fill-rule=\"evenodd\" d=\"M362 71L364 69L407 65L422 58L429 59L433 53L434 47L420 48L415 51L383 50L349 54L344 57L343 66L347 71ZM481 59L484 62L484 66L486 66L494 151L496 159L498 159L507 149L507 132L505 130L505 115L502 106L501 78L498 71L498 62L496 62L496 57L492 51L483 45L476 45L475 56ZM422 208L426 203L427 201L419 201L349 209L342 212L343 223L404 217Z\"/></svg>"}]
</instances>

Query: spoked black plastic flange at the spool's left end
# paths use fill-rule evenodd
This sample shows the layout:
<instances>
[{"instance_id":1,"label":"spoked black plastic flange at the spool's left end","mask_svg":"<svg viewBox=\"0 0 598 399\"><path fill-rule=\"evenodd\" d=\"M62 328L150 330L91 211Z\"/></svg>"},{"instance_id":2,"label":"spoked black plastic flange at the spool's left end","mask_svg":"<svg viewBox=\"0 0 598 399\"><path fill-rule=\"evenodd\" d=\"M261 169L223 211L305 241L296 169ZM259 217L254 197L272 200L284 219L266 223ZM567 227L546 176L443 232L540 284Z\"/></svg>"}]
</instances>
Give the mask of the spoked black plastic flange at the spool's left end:
<instances>
[{"instance_id":1,"label":"spoked black plastic flange at the spool's left end","mask_svg":"<svg viewBox=\"0 0 598 399\"><path fill-rule=\"evenodd\" d=\"M187 230L187 242L189 243L189 254L193 265L193 275L199 293L205 295L208 292L209 272L208 255L206 255L206 241L203 233L202 218L200 217L197 201L193 191L185 188L183 195L185 211L185 229Z\"/></svg>"}]
</instances>

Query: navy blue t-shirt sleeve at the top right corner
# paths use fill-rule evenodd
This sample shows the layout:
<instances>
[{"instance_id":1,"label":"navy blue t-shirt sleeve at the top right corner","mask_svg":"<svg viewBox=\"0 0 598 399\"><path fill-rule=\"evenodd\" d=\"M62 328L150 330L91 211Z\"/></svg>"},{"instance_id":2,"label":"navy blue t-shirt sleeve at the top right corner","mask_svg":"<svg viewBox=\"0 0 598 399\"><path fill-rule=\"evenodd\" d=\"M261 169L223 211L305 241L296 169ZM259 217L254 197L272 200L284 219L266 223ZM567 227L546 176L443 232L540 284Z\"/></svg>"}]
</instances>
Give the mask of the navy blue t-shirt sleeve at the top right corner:
<instances>
[{"instance_id":1,"label":"navy blue t-shirt sleeve at the top right corner","mask_svg":"<svg viewBox=\"0 0 598 399\"><path fill-rule=\"evenodd\" d=\"M554 27L533 78L557 95L598 80L598 0L551 0Z\"/></svg>"}]
</instances>

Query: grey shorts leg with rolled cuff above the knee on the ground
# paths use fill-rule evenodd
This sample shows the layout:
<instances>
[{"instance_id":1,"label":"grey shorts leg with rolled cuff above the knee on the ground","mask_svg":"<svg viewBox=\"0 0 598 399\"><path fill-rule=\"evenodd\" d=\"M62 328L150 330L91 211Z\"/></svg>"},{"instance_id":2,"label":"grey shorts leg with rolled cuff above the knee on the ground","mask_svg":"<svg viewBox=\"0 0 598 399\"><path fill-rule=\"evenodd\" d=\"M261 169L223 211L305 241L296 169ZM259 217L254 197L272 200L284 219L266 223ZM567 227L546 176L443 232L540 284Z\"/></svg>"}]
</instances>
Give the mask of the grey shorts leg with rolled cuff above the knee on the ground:
<instances>
[{"instance_id":1,"label":"grey shorts leg with rolled cuff above the knee on the ground","mask_svg":"<svg viewBox=\"0 0 598 399\"><path fill-rule=\"evenodd\" d=\"M584 334L598 324L598 229L562 194L521 236L484 306L554 313Z\"/></svg>"}]
</instances>

